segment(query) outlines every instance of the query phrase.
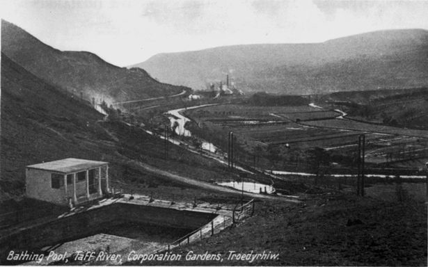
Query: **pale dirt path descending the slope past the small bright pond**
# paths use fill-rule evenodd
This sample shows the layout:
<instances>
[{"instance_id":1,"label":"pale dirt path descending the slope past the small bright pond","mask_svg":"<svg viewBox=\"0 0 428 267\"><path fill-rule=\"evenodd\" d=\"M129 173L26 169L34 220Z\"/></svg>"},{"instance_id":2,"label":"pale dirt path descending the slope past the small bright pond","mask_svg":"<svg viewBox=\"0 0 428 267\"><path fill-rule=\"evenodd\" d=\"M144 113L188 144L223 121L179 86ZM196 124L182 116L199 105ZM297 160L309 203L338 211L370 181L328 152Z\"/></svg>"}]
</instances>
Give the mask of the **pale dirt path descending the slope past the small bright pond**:
<instances>
[{"instance_id":1,"label":"pale dirt path descending the slope past the small bright pond","mask_svg":"<svg viewBox=\"0 0 428 267\"><path fill-rule=\"evenodd\" d=\"M232 188L227 188L224 186L218 186L216 184L211 184L205 181L198 181L195 179L191 179L189 177L183 177L180 175L175 175L171 172L167 172L166 170L161 170L159 168L153 167L152 165L148 165L145 163L141 163L140 161L132 161L134 164L138 165L138 167L141 167L145 170L147 170L148 172L152 172L155 173L157 175L162 175L164 177L168 177L170 179L174 179L175 181L180 181L182 183L185 184L190 184L192 186L198 186L200 188L204 188L207 190L211 190L211 191L217 191L217 192L222 192L222 193L232 193L235 195L241 195L241 191L237 191L235 189ZM285 197L275 197L272 195L262 195L262 194L255 194L255 193L248 193L248 192L244 192L244 196L246 197L253 197L253 198L258 198L258 199L268 199L268 200L278 200L278 201L284 201L284 202L290 202L290 203L299 203L299 200L290 200L287 199Z\"/></svg>"}]
</instances>

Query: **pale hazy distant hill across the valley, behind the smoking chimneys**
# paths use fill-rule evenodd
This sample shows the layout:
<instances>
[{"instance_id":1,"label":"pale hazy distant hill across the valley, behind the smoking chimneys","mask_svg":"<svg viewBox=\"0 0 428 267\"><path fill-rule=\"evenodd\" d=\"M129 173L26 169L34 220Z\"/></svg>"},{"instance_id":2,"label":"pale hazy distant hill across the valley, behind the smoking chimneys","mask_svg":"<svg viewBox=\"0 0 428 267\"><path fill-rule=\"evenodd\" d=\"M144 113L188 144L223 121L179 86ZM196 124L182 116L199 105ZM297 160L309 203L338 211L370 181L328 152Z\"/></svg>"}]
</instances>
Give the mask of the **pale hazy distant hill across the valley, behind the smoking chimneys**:
<instances>
[{"instance_id":1,"label":"pale hazy distant hill across the valley, behind the smoking chimneys","mask_svg":"<svg viewBox=\"0 0 428 267\"><path fill-rule=\"evenodd\" d=\"M428 31L390 30L316 44L248 44L158 54L143 63L152 76L193 89L225 80L239 88L312 94L428 84Z\"/></svg>"}]
</instances>

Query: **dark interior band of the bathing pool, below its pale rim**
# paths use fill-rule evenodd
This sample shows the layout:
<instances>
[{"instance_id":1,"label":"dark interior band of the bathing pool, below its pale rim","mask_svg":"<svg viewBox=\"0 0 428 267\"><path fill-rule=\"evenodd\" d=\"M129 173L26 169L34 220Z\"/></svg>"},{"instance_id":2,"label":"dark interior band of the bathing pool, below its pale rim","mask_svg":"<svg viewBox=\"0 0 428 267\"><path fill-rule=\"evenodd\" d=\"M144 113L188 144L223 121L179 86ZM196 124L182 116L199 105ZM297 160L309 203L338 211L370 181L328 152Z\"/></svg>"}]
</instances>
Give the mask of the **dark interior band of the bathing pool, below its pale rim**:
<instances>
[{"instance_id":1,"label":"dark interior band of the bathing pool, below its pale rim","mask_svg":"<svg viewBox=\"0 0 428 267\"><path fill-rule=\"evenodd\" d=\"M216 213L150 207L140 204L115 203L75 213L47 223L22 229L0 237L0 263L10 250L38 252L47 245L56 245L102 232L102 229L126 222L145 223L181 229L197 229L209 223Z\"/></svg>"}]
</instances>

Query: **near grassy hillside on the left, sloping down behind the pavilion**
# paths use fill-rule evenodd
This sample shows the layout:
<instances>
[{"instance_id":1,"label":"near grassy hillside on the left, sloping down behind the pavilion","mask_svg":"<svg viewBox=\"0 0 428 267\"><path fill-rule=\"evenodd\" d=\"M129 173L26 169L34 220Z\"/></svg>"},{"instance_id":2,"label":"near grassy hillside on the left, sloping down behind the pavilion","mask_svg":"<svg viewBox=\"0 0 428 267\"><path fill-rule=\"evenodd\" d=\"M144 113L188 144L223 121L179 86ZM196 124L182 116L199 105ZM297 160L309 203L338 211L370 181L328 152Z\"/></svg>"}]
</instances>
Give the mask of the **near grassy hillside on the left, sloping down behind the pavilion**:
<instances>
[{"instance_id":1,"label":"near grassy hillside on the left, sloping down behind the pavilion","mask_svg":"<svg viewBox=\"0 0 428 267\"><path fill-rule=\"evenodd\" d=\"M22 198L26 165L68 157L108 161L112 186L166 199L212 194L166 172L203 181L238 179L227 166L176 145L165 159L163 140L103 117L2 54L0 202Z\"/></svg>"}]
</instances>

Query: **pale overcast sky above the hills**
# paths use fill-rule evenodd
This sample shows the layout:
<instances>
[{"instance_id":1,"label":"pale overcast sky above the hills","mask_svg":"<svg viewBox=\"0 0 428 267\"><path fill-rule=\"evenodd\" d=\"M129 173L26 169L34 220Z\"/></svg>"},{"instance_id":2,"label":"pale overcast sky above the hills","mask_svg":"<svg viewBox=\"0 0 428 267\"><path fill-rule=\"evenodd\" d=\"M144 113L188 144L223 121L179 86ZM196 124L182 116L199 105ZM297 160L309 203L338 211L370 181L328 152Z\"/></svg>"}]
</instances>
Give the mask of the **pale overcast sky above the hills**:
<instances>
[{"instance_id":1,"label":"pale overcast sky above the hills","mask_svg":"<svg viewBox=\"0 0 428 267\"><path fill-rule=\"evenodd\" d=\"M0 16L61 50L119 66L230 44L323 42L428 29L428 1L0 0Z\"/></svg>"}]
</instances>

